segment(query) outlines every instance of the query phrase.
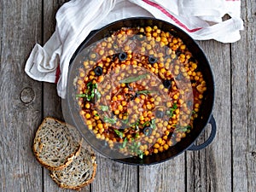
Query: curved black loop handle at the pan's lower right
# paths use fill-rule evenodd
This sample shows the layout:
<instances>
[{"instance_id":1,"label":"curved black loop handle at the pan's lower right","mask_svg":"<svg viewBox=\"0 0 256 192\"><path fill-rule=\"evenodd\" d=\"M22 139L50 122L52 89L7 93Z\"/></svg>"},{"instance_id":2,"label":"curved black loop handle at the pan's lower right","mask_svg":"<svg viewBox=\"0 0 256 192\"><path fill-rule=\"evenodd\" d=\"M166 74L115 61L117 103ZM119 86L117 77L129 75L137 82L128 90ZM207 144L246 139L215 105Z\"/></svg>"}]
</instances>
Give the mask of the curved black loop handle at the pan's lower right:
<instances>
[{"instance_id":1,"label":"curved black loop handle at the pan's lower right","mask_svg":"<svg viewBox=\"0 0 256 192\"><path fill-rule=\"evenodd\" d=\"M212 140L216 135L216 121L213 118L213 116L211 116L211 119L209 120L209 124L212 125L212 131L211 131L210 137L207 138L207 141L205 143L200 144L200 145L195 145L195 143L193 143L188 148L188 150L191 150L191 151L201 150L203 148L206 148L210 143L212 143Z\"/></svg>"}]
</instances>

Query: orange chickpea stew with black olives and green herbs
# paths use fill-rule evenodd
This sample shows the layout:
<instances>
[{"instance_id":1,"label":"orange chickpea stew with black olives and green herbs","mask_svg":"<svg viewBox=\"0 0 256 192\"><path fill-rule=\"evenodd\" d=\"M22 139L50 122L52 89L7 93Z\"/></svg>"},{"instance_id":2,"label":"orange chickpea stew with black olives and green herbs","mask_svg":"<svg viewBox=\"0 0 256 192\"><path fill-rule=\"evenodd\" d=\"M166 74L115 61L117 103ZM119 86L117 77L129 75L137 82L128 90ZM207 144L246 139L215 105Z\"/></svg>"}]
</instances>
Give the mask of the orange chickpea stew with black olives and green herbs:
<instances>
[{"instance_id":1,"label":"orange chickpea stew with black olives and green herbs","mask_svg":"<svg viewBox=\"0 0 256 192\"><path fill-rule=\"evenodd\" d=\"M122 27L86 48L74 80L84 129L124 156L158 154L193 130L207 90L182 39Z\"/></svg>"}]
</instances>

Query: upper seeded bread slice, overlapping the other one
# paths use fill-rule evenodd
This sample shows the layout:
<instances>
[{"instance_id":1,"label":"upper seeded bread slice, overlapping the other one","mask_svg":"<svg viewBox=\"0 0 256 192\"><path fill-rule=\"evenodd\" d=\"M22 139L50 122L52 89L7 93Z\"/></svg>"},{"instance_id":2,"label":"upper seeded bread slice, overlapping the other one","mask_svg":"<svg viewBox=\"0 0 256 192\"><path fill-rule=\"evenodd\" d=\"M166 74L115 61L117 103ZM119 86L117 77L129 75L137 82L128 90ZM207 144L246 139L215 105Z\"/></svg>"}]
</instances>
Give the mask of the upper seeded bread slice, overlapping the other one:
<instances>
[{"instance_id":1,"label":"upper seeded bread slice, overlapping the other one","mask_svg":"<svg viewBox=\"0 0 256 192\"><path fill-rule=\"evenodd\" d=\"M78 131L54 118L45 118L33 142L37 160L49 170L68 166L80 152L82 139Z\"/></svg>"}]
</instances>

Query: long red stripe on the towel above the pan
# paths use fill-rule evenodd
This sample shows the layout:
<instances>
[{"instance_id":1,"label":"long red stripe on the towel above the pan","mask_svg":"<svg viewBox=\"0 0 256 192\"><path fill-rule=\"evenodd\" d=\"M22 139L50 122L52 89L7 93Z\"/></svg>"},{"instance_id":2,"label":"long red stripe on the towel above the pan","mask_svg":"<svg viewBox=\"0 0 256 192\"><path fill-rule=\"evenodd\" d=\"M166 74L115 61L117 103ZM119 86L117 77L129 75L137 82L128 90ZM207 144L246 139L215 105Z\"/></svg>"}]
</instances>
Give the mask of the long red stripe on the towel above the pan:
<instances>
[{"instance_id":1,"label":"long red stripe on the towel above the pan","mask_svg":"<svg viewBox=\"0 0 256 192\"><path fill-rule=\"evenodd\" d=\"M153 6L156 9L160 9L160 11L165 14L166 16L168 16L169 18L171 18L175 23L177 23L178 26L182 26L186 31L188 32L197 32L198 30L201 30L201 27L199 28L195 28L195 29L189 29L187 26L185 26L181 21L177 20L177 18L173 15L171 15L168 11L166 11L166 9L164 9L163 7L161 7L159 4L151 2L149 0L143 0L144 3L147 3L151 6Z\"/></svg>"}]
</instances>

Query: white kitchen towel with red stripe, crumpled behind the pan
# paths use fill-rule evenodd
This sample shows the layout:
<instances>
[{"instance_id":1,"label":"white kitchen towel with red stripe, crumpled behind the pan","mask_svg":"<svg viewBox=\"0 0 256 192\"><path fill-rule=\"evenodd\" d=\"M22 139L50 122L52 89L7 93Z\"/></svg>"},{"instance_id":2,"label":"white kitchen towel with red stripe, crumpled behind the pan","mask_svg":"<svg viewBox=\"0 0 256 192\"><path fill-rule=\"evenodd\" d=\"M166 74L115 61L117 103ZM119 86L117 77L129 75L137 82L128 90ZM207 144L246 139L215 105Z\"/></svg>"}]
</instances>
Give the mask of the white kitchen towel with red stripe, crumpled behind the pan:
<instances>
[{"instance_id":1,"label":"white kitchen towel with red stripe, crumpled behind the pan","mask_svg":"<svg viewBox=\"0 0 256 192\"><path fill-rule=\"evenodd\" d=\"M239 0L71 0L57 11L55 32L44 47L32 49L25 71L32 79L57 83L58 95L65 98L69 61L92 30L148 16L166 20L196 40L233 43L243 29L240 7ZM223 21L226 14L230 19Z\"/></svg>"}]
</instances>

